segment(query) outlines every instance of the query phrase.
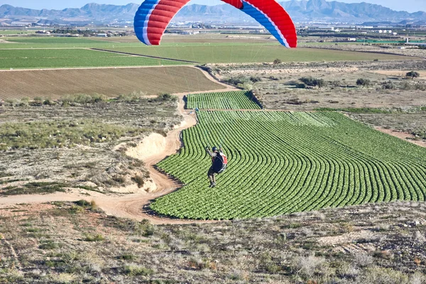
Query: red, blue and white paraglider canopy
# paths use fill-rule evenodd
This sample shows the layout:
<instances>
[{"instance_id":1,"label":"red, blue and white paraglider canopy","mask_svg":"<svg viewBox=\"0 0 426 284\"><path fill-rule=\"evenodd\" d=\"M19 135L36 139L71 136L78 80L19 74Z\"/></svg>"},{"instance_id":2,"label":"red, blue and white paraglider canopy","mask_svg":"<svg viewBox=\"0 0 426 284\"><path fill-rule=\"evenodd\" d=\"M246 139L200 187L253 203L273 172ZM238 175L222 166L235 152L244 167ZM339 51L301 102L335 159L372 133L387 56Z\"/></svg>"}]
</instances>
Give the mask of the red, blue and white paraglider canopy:
<instances>
[{"instance_id":1,"label":"red, blue and white paraglider canopy","mask_svg":"<svg viewBox=\"0 0 426 284\"><path fill-rule=\"evenodd\" d=\"M190 0L146 0L136 12L136 36L146 45L159 45L165 28ZM275 0L222 0L264 26L282 45L297 46L295 25Z\"/></svg>"}]
</instances>

